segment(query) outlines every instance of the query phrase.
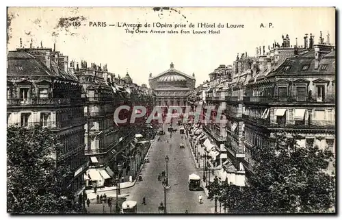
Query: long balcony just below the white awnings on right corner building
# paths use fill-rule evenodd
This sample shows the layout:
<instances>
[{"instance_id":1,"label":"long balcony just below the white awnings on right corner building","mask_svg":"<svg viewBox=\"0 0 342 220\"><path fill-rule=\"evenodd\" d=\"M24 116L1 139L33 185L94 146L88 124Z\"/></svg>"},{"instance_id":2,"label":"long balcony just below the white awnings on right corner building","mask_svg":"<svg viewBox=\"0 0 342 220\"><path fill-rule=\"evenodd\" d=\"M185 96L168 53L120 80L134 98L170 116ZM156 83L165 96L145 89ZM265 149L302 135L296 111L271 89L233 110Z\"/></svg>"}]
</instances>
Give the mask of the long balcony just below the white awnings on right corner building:
<instances>
[{"instance_id":1,"label":"long balcony just below the white awnings on right corner building","mask_svg":"<svg viewBox=\"0 0 342 220\"><path fill-rule=\"evenodd\" d=\"M269 128L335 130L335 121L301 121L287 120L281 123L270 123Z\"/></svg>"}]
</instances>

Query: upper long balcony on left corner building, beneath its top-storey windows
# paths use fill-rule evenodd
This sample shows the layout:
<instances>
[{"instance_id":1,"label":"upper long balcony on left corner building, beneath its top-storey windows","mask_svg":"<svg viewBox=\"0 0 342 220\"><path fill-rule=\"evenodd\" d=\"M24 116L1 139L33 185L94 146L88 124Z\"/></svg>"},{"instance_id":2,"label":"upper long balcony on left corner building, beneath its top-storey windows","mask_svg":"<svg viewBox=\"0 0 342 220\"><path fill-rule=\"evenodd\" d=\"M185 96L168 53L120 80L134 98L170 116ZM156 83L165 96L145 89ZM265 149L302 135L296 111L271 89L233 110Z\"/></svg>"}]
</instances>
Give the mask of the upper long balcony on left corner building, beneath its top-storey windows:
<instances>
[{"instance_id":1,"label":"upper long balcony on left corner building, beneath its top-storey windows","mask_svg":"<svg viewBox=\"0 0 342 220\"><path fill-rule=\"evenodd\" d=\"M7 106L61 106L83 103L84 99L29 98L7 99Z\"/></svg>"}]
</instances>

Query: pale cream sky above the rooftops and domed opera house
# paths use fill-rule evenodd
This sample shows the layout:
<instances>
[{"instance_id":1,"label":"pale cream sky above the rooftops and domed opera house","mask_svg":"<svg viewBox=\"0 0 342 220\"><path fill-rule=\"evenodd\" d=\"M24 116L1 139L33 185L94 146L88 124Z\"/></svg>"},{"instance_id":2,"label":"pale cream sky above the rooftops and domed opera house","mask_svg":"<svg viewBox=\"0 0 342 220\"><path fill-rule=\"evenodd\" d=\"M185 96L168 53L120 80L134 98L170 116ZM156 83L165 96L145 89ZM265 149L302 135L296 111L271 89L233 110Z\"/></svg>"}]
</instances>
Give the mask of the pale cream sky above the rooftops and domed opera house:
<instances>
[{"instance_id":1,"label":"pale cream sky above the rooftops and domed opera house","mask_svg":"<svg viewBox=\"0 0 342 220\"><path fill-rule=\"evenodd\" d=\"M281 44L282 34L289 34L291 45L303 45L304 34L313 34L315 43L319 31L330 32L335 42L334 8L174 8L154 11L152 8L9 8L14 16L10 24L8 49L23 45L53 47L69 56L69 60L86 60L107 64L111 73L124 77L128 69L133 82L148 84L148 75L157 75L174 68L192 75L196 86L209 79L220 64L233 64L237 53L255 54L255 48ZM60 27L61 18L83 16L81 27ZM62 20L63 21L63 20ZM107 27L89 27L90 22L106 22ZM192 31L220 29L220 34L126 34L117 23L162 23L189 25L215 23L216 28L178 28ZM218 28L218 24L244 25L244 28ZM266 27L260 27L261 23ZM272 23L273 27L268 28ZM109 27L109 24L116 25ZM140 27L141 30L174 28Z\"/></svg>"}]
</instances>

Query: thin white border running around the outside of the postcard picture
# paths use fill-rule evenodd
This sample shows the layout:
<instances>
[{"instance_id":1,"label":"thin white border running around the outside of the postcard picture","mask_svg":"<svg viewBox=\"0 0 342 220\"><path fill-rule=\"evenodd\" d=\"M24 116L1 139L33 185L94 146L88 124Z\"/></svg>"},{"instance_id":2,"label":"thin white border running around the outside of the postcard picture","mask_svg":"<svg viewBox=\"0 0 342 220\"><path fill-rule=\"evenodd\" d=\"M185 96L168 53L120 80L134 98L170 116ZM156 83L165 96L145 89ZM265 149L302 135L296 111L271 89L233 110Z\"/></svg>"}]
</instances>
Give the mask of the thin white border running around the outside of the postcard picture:
<instances>
[{"instance_id":1,"label":"thin white border running around the outside of the postcard picture","mask_svg":"<svg viewBox=\"0 0 342 220\"><path fill-rule=\"evenodd\" d=\"M317 7L317 6L336 6L337 9L341 9L341 2L342 1L332 1L332 0L311 0L311 1L298 1L298 0L287 0L287 1L266 1L266 0L259 0L259 1L246 1L246 0L239 0L239 1L224 1L224 0L211 0L211 1L200 1L200 0L189 0L189 1L182 1L182 0L173 0L173 1L132 1L132 0L125 0L122 2L115 2L115 4L113 2L109 2L109 1L103 1L103 0L96 0L96 1L73 1L73 3L66 0L58 0L58 1L46 1L46 0L34 0L34 1L16 1L16 0L12 0L10 2L8 2L8 5L4 5L5 1L1 1L1 18L3 19L3 22L1 23L1 29L5 30L6 29L6 24L7 22L5 21L5 17L6 17L6 6L60 6L60 7L70 7L70 6L93 6L93 7L100 7L100 6L119 6L119 7L123 7L123 6L179 6L179 7L186 7L186 6L196 6L196 7L203 7L203 6L207 6L207 7L238 7L238 6L247 6L247 7L285 7L285 6L292 6L292 7L300 7L300 6L306 6L306 7ZM286 19L286 18L285 18ZM337 16L337 19L339 20L339 16ZM339 21L337 21L337 24L339 24ZM7 191L7 186L6 186L6 182L5 182L5 175L6 175L6 143L5 143L5 136L6 136L6 123L5 123L5 111L6 111L6 106L5 106L5 77L6 77L6 46L5 46L5 41L6 41L6 36L5 33L1 34L1 40L3 42L3 44L1 44L1 51L3 51L3 53L1 53L2 59L1 59L1 69L2 69L2 80L0 80L0 88L1 88L1 95L0 95L0 99L2 105L1 105L1 157L2 160L1 163L1 177L3 177L3 181L1 181L1 214L4 215L5 219L9 219L10 215L7 214L7 208L6 208L6 191ZM339 36L339 42L341 40L341 36ZM339 49L337 49L337 51L339 52ZM341 58L339 58L339 62L340 62ZM337 73L340 74L340 73ZM341 81L341 76L339 76L339 81ZM341 85L341 82L339 82L339 85ZM342 99L342 98L341 98ZM341 100L339 100L341 102ZM341 115L340 115L341 118ZM340 122L340 121L339 121ZM340 130L339 130L340 131ZM339 132L340 134L340 132ZM341 135L337 135L340 136ZM339 146L337 146L339 147ZM341 149L339 149L339 155L338 157L341 158ZM341 162L339 162L341 163ZM338 175L340 175L340 170ZM20 218L28 218L29 216L21 216ZM34 218L39 217L39 216L34 216ZM45 217L45 216L42 216ZM58 218L58 219L81 219L83 218L83 216L77 216L77 217L72 217L72 216L51 216L53 218ZM102 216L86 216L87 218L101 218ZM110 217L110 216L105 216L105 217ZM155 215L151 215L151 216L144 216L144 215L140 215L137 216L135 218L149 218L149 217L161 217L161 216L155 216ZM190 217L195 217L195 216L190 216ZM201 216L198 216L201 217ZM203 215L202 217L209 217L208 215ZM219 215L218 217L224 217L224 218L241 218L241 216L221 216ZM250 216L244 216L244 217L250 217ZM264 216L256 216L257 218L263 218ZM275 216L274 216L275 217ZM300 219L304 216L298 216L298 217L294 217L297 219ZM118 216L116 217L111 217L111 218L118 218ZM120 217L119 217L120 218ZM129 217L132 218L133 217ZM184 218L184 217L180 217L180 216L176 216L176 217L172 217L172 218ZM253 217L255 218L255 217ZM277 217L278 218L278 217ZM324 218L323 216L319 216L319 218ZM125 219L127 219L127 217L125 217Z\"/></svg>"}]
</instances>

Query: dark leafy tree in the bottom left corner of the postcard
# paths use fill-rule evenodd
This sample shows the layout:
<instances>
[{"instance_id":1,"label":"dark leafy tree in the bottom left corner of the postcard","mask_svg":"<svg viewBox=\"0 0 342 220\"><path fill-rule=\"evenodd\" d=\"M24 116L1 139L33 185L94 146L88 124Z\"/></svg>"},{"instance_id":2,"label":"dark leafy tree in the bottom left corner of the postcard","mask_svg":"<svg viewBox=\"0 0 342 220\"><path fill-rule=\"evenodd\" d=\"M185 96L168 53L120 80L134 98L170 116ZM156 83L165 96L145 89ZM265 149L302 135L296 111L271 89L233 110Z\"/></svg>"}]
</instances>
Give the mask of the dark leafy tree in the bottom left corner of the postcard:
<instances>
[{"instance_id":1,"label":"dark leafy tree in the bottom left corner of the postcard","mask_svg":"<svg viewBox=\"0 0 342 220\"><path fill-rule=\"evenodd\" d=\"M50 130L8 127L8 212L77 213L70 190L73 171L59 155L63 145Z\"/></svg>"}]
</instances>

